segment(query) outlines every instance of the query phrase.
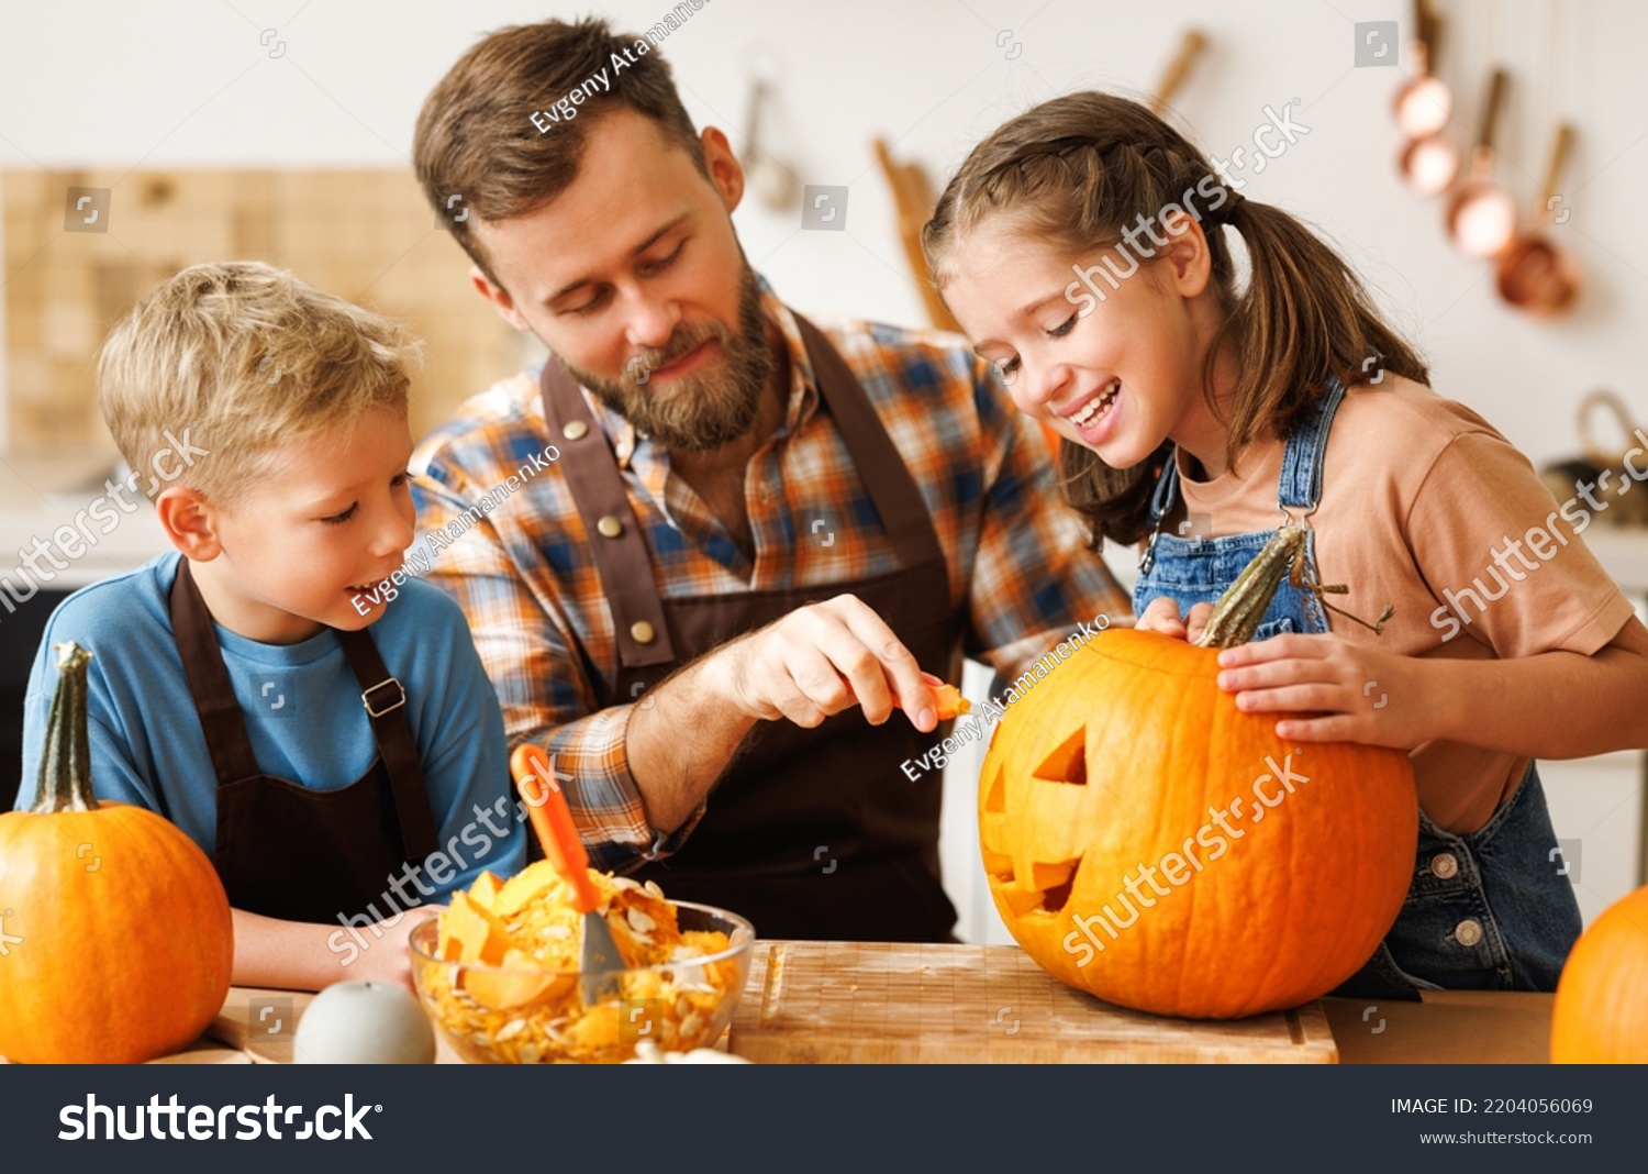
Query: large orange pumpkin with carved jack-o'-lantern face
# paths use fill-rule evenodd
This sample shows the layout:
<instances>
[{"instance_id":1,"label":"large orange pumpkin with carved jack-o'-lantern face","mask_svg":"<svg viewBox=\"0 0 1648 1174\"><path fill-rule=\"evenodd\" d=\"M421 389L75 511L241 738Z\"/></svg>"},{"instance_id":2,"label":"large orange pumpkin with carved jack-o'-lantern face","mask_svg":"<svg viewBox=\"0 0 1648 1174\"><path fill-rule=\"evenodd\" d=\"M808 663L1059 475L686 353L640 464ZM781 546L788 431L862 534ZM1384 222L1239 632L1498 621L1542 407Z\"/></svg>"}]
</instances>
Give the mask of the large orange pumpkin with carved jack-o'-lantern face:
<instances>
[{"instance_id":1,"label":"large orange pumpkin with carved jack-o'-lantern face","mask_svg":"<svg viewBox=\"0 0 1648 1174\"><path fill-rule=\"evenodd\" d=\"M1356 973L1401 912L1419 808L1406 754L1284 742L1216 674L1216 648L1150 632L1079 646L1007 709L979 831L1002 918L1053 976L1224 1019Z\"/></svg>"}]
</instances>

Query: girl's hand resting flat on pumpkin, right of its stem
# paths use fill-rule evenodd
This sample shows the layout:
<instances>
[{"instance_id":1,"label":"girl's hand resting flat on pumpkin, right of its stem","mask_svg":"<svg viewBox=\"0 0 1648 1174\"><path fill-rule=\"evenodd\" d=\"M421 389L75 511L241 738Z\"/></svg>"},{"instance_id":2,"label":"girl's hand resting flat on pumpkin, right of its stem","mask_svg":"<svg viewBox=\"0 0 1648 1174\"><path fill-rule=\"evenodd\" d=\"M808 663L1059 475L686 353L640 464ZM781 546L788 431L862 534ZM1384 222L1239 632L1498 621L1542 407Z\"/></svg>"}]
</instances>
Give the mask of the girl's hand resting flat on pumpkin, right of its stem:
<instances>
[{"instance_id":1,"label":"girl's hand resting flat on pumpkin, right of its stem","mask_svg":"<svg viewBox=\"0 0 1648 1174\"><path fill-rule=\"evenodd\" d=\"M1220 651L1220 688L1249 714L1289 714L1276 735L1411 750L1432 740L1439 707L1422 663L1340 636L1287 633Z\"/></svg>"}]
</instances>

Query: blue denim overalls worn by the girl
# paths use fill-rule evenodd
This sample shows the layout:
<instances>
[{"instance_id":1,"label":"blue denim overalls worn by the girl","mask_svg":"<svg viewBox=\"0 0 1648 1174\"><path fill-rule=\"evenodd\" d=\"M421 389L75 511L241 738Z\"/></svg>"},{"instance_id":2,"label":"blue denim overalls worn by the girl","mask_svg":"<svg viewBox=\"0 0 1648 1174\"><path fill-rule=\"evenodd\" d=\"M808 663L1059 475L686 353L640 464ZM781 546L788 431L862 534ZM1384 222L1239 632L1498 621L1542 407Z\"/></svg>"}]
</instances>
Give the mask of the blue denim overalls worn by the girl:
<instances>
[{"instance_id":1,"label":"blue denim overalls worn by the girl","mask_svg":"<svg viewBox=\"0 0 1648 1174\"><path fill-rule=\"evenodd\" d=\"M1343 397L1343 384L1330 381L1317 416L1289 437L1282 457L1277 505L1284 519L1307 529L1322 500L1322 453ZM1182 615L1193 603L1218 600L1271 539L1271 531L1229 538L1162 533L1177 491L1177 462L1170 460L1150 501L1152 536L1134 587L1137 615L1159 595L1177 600ZM1309 531L1310 567L1315 538ZM1320 600L1284 579L1254 640L1328 630ZM1556 846L1533 762L1511 798L1467 836L1442 831L1421 811L1414 880L1402 912L1374 956L1333 994L1417 999L1421 988L1554 991L1580 932L1579 904L1554 862Z\"/></svg>"}]
</instances>

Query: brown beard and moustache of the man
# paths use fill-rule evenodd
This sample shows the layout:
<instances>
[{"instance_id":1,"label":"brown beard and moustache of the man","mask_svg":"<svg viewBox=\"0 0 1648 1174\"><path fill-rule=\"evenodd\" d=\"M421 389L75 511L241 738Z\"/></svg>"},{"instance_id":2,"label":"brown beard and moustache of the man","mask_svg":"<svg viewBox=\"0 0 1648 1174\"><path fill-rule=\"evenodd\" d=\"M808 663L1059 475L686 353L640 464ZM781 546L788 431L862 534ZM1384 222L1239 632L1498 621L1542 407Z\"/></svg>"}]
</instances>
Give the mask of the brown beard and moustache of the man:
<instances>
[{"instance_id":1,"label":"brown beard and moustache of the man","mask_svg":"<svg viewBox=\"0 0 1648 1174\"><path fill-rule=\"evenodd\" d=\"M707 338L727 351L725 378L709 371L677 376L667 391L651 389L638 379L667 366ZM643 435L669 452L714 452L745 432L755 422L761 391L773 374L773 356L766 350L766 323L761 318L761 292L755 272L743 267L738 290L738 333L720 322L681 323L664 346L644 350L616 381L570 363L567 371L595 392L608 409L623 416Z\"/></svg>"}]
</instances>

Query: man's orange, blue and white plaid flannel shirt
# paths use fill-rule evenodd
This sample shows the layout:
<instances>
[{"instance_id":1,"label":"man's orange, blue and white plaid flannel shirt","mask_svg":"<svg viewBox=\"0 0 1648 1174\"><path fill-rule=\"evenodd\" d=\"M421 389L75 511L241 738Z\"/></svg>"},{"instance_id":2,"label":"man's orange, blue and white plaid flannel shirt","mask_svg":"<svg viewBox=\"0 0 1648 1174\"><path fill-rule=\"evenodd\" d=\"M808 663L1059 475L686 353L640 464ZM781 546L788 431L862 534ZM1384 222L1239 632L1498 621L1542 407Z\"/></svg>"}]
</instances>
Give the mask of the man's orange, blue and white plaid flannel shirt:
<instances>
[{"instance_id":1,"label":"man's orange, blue and white plaid flannel shirt","mask_svg":"<svg viewBox=\"0 0 1648 1174\"><path fill-rule=\"evenodd\" d=\"M755 561L679 477L669 453L585 392L605 430L664 599L817 587L897 569L880 518L821 397L791 312L761 282L761 308L789 345L786 419L751 457L745 498ZM1081 620L1126 617L1127 595L1063 508L1046 448L992 368L954 335L849 322L826 328L903 455L949 567L964 651L1009 678ZM466 401L417 447L417 554L463 607L503 704L509 745L554 755L592 861L630 869L676 851L648 824L630 773L633 704L598 707L588 666L618 669L592 536L554 462L539 371ZM598 541L598 539L597 539ZM582 650L582 651L580 651ZM587 658L587 660L585 660ZM888 763L897 772L897 763ZM714 796L709 800L714 801Z\"/></svg>"}]
</instances>

